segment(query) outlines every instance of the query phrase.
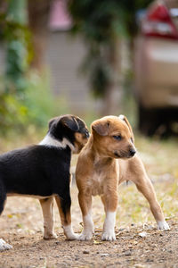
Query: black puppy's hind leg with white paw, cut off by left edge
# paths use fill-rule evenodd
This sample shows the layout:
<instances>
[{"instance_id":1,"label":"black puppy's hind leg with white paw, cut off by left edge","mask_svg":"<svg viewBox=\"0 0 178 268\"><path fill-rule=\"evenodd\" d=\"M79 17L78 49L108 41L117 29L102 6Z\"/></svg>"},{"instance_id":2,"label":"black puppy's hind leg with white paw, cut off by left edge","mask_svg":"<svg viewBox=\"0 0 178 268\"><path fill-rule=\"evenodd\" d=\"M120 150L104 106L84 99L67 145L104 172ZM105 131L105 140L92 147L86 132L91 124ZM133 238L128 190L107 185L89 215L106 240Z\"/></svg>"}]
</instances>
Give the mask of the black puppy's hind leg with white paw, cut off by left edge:
<instances>
[{"instance_id":1,"label":"black puppy's hind leg with white paw, cut off by left edge","mask_svg":"<svg viewBox=\"0 0 178 268\"><path fill-rule=\"evenodd\" d=\"M6 193L4 190L4 185L2 182L0 182L0 215L2 214L4 210L5 199L6 199ZM6 243L4 239L0 239L0 252L11 249L11 248L12 246Z\"/></svg>"}]
</instances>

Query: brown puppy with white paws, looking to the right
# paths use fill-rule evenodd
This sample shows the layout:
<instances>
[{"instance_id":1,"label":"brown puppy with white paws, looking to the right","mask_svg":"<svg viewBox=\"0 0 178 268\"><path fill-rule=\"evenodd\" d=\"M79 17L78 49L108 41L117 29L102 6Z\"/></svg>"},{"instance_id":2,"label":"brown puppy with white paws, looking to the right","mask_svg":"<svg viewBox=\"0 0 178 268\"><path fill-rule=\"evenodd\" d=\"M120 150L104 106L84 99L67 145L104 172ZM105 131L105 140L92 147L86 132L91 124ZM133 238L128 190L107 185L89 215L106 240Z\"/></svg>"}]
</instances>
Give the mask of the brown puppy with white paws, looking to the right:
<instances>
[{"instance_id":1,"label":"brown puppy with white paws, looking to the right","mask_svg":"<svg viewBox=\"0 0 178 268\"><path fill-rule=\"evenodd\" d=\"M92 196L96 195L101 196L106 213L101 239L116 239L118 185L125 180L132 180L147 198L158 229L169 229L142 160L135 153L133 130L124 115L93 121L92 135L77 162L78 199L84 221L78 239L93 237Z\"/></svg>"}]
</instances>

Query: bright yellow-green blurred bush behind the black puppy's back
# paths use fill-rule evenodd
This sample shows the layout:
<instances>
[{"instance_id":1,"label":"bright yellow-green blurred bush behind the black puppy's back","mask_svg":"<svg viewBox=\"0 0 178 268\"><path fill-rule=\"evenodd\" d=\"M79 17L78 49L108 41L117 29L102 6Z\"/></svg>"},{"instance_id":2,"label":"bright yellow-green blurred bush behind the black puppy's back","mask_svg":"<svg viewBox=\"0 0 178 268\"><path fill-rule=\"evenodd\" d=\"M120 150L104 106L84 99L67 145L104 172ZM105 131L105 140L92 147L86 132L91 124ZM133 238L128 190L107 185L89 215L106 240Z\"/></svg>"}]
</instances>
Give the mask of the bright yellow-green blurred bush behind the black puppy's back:
<instances>
[{"instance_id":1,"label":"bright yellow-green blurred bush behind the black puppy's back","mask_svg":"<svg viewBox=\"0 0 178 268\"><path fill-rule=\"evenodd\" d=\"M46 73L39 77L31 72L25 94L0 97L0 136L28 132L32 125L46 129L50 118L69 111L65 100L53 97L49 84Z\"/></svg>"}]
</instances>

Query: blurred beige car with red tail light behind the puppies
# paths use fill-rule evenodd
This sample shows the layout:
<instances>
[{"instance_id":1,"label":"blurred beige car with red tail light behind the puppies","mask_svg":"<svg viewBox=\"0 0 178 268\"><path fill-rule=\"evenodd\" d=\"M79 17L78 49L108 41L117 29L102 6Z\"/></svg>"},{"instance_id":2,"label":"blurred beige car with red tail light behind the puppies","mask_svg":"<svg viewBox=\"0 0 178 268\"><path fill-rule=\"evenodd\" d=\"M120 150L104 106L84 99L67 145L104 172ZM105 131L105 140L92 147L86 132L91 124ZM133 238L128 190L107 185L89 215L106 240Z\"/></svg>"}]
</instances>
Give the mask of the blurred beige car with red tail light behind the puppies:
<instances>
[{"instance_id":1,"label":"blurred beige car with red tail light behind the puppies","mask_svg":"<svg viewBox=\"0 0 178 268\"><path fill-rule=\"evenodd\" d=\"M153 2L142 15L134 46L134 93L139 130L146 135L178 130L178 8ZM178 131L177 131L178 133Z\"/></svg>"}]
</instances>

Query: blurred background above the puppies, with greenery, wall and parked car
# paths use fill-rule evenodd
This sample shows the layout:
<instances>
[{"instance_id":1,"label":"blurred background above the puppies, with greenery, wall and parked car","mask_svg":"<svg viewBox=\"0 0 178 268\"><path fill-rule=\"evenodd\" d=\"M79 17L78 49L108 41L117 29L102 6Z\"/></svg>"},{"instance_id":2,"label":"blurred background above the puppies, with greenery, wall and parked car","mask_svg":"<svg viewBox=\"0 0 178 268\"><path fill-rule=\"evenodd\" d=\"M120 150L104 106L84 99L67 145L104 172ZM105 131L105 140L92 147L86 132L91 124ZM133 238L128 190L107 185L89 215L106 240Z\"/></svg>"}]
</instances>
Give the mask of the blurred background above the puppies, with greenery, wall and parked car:
<instances>
[{"instance_id":1,"label":"blurred background above the puppies, with greenery, wall and parked car","mask_svg":"<svg viewBox=\"0 0 178 268\"><path fill-rule=\"evenodd\" d=\"M178 1L0 0L0 132L125 113L178 133Z\"/></svg>"}]
</instances>

